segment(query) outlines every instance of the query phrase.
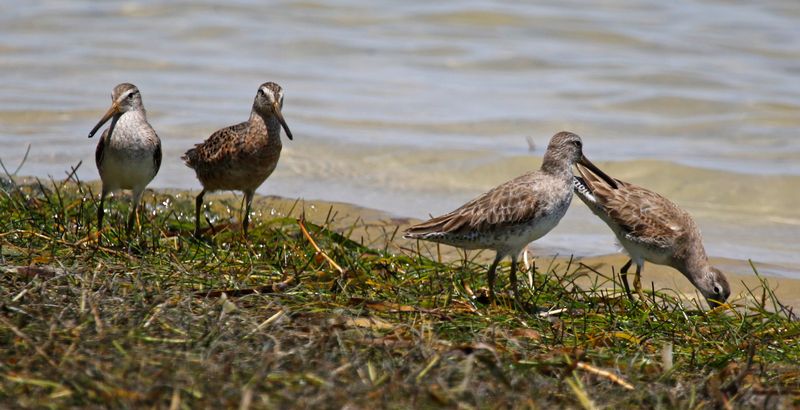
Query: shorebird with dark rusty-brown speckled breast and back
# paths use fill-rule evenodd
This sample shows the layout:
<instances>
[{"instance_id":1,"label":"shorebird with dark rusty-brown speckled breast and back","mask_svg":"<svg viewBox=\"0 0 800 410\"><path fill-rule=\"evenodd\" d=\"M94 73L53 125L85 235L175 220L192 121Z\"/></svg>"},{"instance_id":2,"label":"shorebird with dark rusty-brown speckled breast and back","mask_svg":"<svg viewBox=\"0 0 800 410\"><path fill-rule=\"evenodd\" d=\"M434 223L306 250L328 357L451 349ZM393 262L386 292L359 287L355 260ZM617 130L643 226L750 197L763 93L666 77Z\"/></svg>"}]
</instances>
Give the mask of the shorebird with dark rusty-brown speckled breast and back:
<instances>
[{"instance_id":1,"label":"shorebird with dark rusty-brown speckled breast and back","mask_svg":"<svg viewBox=\"0 0 800 410\"><path fill-rule=\"evenodd\" d=\"M283 90L267 82L258 87L250 119L211 134L202 144L186 151L182 159L194 169L203 190L195 200L194 235L200 237L200 208L210 191L242 191L245 211L242 229L247 236L250 206L256 189L272 174L281 156L281 127L292 139L283 119Z\"/></svg>"}]
</instances>

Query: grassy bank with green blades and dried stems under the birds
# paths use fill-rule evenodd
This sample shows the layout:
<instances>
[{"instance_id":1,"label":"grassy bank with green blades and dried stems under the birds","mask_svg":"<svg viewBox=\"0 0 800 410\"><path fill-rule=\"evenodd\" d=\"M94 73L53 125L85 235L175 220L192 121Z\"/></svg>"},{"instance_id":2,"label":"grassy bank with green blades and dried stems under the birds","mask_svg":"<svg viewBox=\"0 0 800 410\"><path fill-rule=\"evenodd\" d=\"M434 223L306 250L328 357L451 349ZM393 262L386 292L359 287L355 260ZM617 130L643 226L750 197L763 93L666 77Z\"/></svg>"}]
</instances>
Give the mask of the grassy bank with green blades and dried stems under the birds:
<instances>
[{"instance_id":1,"label":"grassy bank with green blades and dried stems under the birds","mask_svg":"<svg viewBox=\"0 0 800 410\"><path fill-rule=\"evenodd\" d=\"M668 291L632 304L608 272L539 261L527 305L503 289L493 307L485 265L425 257L435 248L391 225L299 219L299 202L260 200L245 241L227 223L239 199L217 197L197 241L190 196L147 194L130 237L127 198L114 198L98 243L91 188L2 182L6 404L800 405L800 323L767 286L712 312Z\"/></svg>"}]
</instances>

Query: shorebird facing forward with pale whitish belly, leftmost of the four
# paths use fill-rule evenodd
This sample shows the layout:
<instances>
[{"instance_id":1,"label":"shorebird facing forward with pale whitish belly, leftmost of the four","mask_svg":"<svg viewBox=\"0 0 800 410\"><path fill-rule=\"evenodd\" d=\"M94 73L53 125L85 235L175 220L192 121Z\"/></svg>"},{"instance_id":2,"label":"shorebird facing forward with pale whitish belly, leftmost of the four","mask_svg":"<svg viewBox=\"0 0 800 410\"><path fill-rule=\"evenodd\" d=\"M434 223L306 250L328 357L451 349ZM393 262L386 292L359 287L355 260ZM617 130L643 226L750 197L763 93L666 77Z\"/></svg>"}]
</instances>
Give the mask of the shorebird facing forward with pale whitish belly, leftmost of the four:
<instances>
[{"instance_id":1,"label":"shorebird facing forward with pale whitish belly, leftmost of the four","mask_svg":"<svg viewBox=\"0 0 800 410\"><path fill-rule=\"evenodd\" d=\"M126 225L130 233L142 193L161 167L161 140L147 122L142 95L133 84L122 83L114 87L111 107L89 131L89 138L109 119L111 125L103 131L94 153L103 182L97 208L97 229L103 228L106 195L119 189L130 189L133 191L133 208Z\"/></svg>"}]
</instances>

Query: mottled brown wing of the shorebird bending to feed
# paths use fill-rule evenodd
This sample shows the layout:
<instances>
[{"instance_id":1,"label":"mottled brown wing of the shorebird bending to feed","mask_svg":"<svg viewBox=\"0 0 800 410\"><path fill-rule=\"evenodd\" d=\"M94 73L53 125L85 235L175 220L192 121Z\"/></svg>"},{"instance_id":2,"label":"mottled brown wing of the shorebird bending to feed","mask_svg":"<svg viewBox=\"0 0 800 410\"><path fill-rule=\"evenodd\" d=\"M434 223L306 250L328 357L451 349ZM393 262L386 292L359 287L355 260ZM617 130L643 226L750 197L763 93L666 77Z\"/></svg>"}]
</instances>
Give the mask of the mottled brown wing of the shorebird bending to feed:
<instances>
[{"instance_id":1,"label":"mottled brown wing of the shorebird bending to feed","mask_svg":"<svg viewBox=\"0 0 800 410\"><path fill-rule=\"evenodd\" d=\"M689 214L669 199L640 186L616 180L617 189L578 165L595 200L595 212L619 227L626 239L648 246L672 247L694 231ZM606 219L604 218L604 219Z\"/></svg>"}]
</instances>

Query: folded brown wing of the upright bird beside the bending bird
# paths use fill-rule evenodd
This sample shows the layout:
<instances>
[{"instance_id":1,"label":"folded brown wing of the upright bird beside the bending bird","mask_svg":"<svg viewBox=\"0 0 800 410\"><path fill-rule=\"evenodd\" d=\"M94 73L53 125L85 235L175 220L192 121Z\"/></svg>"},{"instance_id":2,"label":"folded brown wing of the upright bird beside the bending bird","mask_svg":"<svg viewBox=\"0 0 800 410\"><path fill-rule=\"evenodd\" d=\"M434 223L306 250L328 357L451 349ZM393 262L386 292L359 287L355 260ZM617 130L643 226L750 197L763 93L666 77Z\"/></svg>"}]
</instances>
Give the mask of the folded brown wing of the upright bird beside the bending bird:
<instances>
[{"instance_id":1,"label":"folded brown wing of the upright bird beside the bending bird","mask_svg":"<svg viewBox=\"0 0 800 410\"><path fill-rule=\"evenodd\" d=\"M538 208L530 180L531 174L526 174L499 185L453 212L408 228L406 236L485 232L530 221Z\"/></svg>"}]
</instances>

